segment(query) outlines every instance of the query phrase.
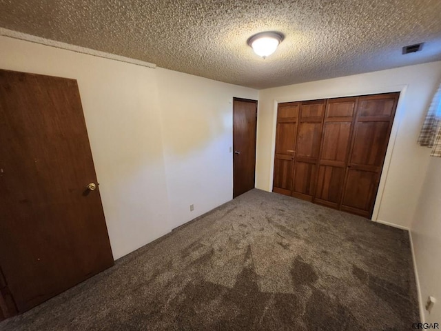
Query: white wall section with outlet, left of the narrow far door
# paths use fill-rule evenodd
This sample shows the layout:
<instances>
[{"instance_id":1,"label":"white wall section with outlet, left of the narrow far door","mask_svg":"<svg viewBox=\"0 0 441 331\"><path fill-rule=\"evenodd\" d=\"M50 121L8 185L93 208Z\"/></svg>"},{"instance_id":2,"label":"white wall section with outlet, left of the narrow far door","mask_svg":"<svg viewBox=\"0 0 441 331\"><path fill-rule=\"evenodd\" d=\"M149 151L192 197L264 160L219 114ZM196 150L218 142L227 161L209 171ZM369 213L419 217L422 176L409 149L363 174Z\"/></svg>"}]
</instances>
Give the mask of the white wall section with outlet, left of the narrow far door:
<instances>
[{"instance_id":1,"label":"white wall section with outlet, left of the narrow far door","mask_svg":"<svg viewBox=\"0 0 441 331\"><path fill-rule=\"evenodd\" d=\"M257 99L258 91L161 68L156 73L175 228L232 199L232 101Z\"/></svg>"}]
</instances>

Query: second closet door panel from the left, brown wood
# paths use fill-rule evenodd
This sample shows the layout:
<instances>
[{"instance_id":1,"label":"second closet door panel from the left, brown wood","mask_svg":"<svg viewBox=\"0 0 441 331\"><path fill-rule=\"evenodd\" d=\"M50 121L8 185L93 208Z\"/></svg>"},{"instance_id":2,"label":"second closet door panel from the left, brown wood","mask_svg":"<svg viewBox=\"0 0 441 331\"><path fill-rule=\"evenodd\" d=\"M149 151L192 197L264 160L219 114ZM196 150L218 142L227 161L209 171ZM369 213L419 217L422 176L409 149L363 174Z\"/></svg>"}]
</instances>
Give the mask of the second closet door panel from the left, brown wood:
<instances>
[{"instance_id":1,"label":"second closet door panel from the left, brown wood","mask_svg":"<svg viewBox=\"0 0 441 331\"><path fill-rule=\"evenodd\" d=\"M312 201L317 179L325 100L302 101L291 196Z\"/></svg>"}]
</instances>

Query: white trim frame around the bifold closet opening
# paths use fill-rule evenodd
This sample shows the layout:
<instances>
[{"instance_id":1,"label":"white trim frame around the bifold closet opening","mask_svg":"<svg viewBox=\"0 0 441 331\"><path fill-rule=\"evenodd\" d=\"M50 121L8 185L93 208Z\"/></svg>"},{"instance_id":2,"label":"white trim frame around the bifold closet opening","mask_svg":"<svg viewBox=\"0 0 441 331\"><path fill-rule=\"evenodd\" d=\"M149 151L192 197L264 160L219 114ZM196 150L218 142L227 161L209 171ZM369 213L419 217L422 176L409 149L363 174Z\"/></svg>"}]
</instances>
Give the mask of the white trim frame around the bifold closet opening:
<instances>
[{"instance_id":1,"label":"white trim frame around the bifold closet opening","mask_svg":"<svg viewBox=\"0 0 441 331\"><path fill-rule=\"evenodd\" d=\"M277 106L278 103L283 102L299 102L299 101L310 101L316 99L333 99L333 98L344 98L344 97L360 97L363 95L369 94L382 94L382 93L393 93L399 92L400 97L398 97L397 108L395 112L395 117L392 123L391 134L389 136L389 143L387 143L387 151L386 156L384 157L384 163L382 172L380 174L380 183L378 184L378 190L376 195L375 203L373 204L373 212L371 221L378 221L379 223L387 223L380 219L378 219L378 214L380 212L380 206L382 203L382 197L384 194L384 188L386 186L387 175L389 174L389 168L391 165L391 159L393 154L393 149L395 147L396 138L398 135L398 129L400 128L400 124L402 119L404 118L405 109L404 109L404 99L406 99L407 85L394 85L394 86L386 86L380 88L372 88L372 89L363 89L360 90L349 90L349 92L338 92L338 93L321 93L318 90L317 94L309 94L309 97L302 97L302 95L296 94L295 97L281 97L274 99L273 107L272 107L272 132L271 132L271 155L269 161L269 181L267 186L267 191L271 192L273 183L274 183L274 152L276 151L276 127L277 127ZM391 224L393 225L393 224ZM398 228L400 226L393 225ZM402 228L402 227L401 227Z\"/></svg>"}]
</instances>

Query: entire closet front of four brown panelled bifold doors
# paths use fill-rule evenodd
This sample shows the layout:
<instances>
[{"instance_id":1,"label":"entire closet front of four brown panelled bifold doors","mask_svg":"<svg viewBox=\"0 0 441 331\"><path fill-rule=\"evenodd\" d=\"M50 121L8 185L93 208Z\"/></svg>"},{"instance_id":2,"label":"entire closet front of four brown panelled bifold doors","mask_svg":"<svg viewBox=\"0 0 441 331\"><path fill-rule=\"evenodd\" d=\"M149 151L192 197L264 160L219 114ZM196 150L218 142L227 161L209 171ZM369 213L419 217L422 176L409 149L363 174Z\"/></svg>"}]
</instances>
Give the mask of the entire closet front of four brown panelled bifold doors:
<instances>
[{"instance_id":1,"label":"entire closet front of four brown panelled bifold doors","mask_svg":"<svg viewBox=\"0 0 441 331\"><path fill-rule=\"evenodd\" d=\"M278 103L273 192L370 218L399 95Z\"/></svg>"}]
</instances>

